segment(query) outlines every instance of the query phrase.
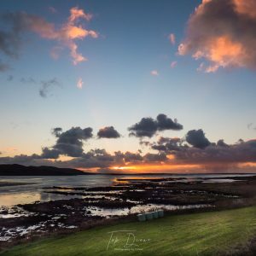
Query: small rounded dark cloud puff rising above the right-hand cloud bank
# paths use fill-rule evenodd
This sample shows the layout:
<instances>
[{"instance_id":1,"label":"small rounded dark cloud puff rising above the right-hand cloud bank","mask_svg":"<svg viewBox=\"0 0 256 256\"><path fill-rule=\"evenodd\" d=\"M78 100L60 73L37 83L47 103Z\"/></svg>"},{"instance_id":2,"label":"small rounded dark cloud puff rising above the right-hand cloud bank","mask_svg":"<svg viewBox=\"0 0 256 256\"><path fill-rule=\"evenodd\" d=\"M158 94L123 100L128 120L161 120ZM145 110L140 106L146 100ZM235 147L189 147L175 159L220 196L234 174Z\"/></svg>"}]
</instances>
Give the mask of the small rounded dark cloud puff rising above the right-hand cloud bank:
<instances>
[{"instance_id":1,"label":"small rounded dark cloud puff rising above the right-hand cloud bank","mask_svg":"<svg viewBox=\"0 0 256 256\"><path fill-rule=\"evenodd\" d=\"M189 131L186 135L186 141L195 148L207 148L211 144L201 129Z\"/></svg>"}]
</instances>

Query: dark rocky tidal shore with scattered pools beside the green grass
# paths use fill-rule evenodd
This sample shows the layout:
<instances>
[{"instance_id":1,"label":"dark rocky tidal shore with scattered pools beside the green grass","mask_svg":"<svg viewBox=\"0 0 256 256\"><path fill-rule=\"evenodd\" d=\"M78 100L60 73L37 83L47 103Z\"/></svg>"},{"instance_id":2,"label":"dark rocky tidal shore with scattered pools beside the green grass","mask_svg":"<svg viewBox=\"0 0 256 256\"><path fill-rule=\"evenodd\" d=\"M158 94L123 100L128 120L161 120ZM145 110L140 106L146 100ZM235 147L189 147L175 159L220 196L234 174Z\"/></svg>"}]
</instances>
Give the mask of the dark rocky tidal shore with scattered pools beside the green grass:
<instances>
[{"instance_id":1,"label":"dark rocky tidal shore with scattered pools beside the green grass","mask_svg":"<svg viewBox=\"0 0 256 256\"><path fill-rule=\"evenodd\" d=\"M0 214L9 214L9 218L0 218L3 227L0 235L2 240L6 237L0 241L0 249L37 237L86 230L113 220L135 220L137 213L156 207L165 209L168 214L183 214L252 206L255 188L256 177L244 177L229 183L183 183L179 179L160 178L129 180L129 183L117 181L111 186L94 188L44 187L45 193L79 195L82 198L38 201L10 209L2 207Z\"/></svg>"}]
</instances>

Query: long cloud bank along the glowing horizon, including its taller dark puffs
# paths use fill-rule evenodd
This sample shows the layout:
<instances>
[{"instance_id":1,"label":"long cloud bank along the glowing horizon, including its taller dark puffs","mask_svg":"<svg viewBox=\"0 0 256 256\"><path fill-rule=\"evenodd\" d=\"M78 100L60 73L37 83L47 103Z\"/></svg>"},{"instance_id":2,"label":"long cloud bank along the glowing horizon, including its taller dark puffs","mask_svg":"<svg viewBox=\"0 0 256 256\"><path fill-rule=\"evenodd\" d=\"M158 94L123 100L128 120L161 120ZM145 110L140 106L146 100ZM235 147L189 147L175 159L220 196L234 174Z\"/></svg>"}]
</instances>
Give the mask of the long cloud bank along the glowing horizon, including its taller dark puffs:
<instances>
[{"instance_id":1,"label":"long cloud bank along the glowing horizon, including its taller dark puffs","mask_svg":"<svg viewBox=\"0 0 256 256\"><path fill-rule=\"evenodd\" d=\"M83 143L92 137L90 127L72 127L62 131L60 127L52 130L57 138L53 147L42 148L42 154L20 154L14 157L0 157L1 164L21 164L26 166L58 166L83 168L84 170L177 170L178 172L251 172L256 166L256 140L234 144L209 143L202 130L189 131L190 146L178 137L160 137L156 143L149 143L158 153L142 154L141 151L113 154L105 149L91 149L84 153ZM188 136L186 137L188 139ZM207 145L207 146L206 146ZM71 160L60 160L60 155L71 156ZM194 167L193 167L194 166ZM196 166L196 169L195 169ZM151 167L151 168L150 168ZM149 168L149 169L147 169ZM160 168L160 169L158 169ZM175 169L173 169L175 168ZM185 169L184 169L185 168ZM189 169L192 168L192 169ZM194 169L193 169L194 168Z\"/></svg>"}]
</instances>

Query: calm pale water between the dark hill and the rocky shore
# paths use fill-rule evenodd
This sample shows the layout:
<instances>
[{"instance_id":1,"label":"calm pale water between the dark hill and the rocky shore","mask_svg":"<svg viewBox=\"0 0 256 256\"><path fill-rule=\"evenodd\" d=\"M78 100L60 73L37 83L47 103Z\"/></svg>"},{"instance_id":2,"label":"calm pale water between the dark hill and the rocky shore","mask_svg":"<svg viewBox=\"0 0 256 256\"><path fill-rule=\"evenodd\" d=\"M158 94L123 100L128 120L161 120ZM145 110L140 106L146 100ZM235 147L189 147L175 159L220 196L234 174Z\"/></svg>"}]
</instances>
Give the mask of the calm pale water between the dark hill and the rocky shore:
<instances>
[{"instance_id":1,"label":"calm pale water between the dark hill and the rocky shore","mask_svg":"<svg viewBox=\"0 0 256 256\"><path fill-rule=\"evenodd\" d=\"M8 183L32 183L25 185L17 186L2 186L0 187L0 207L3 206L14 206L17 204L32 203L34 201L51 201L51 200L60 200L60 199L70 199L73 197L81 197L79 195L55 195L44 193L44 187L52 186L63 186L63 187L104 187L109 186L113 183L119 182L118 179L131 180L142 180L147 178L163 178L163 177L172 177L172 178L183 178L177 180L179 182L190 182L190 181L201 181L202 178L207 177L206 182L232 182L232 177L240 177L241 175L237 174L212 174L212 175L145 175L145 176L125 176L125 175L84 175L84 176L56 176L56 177L0 177L0 182ZM243 177L245 175L242 175ZM251 175L247 175L251 176ZM225 180L219 179L220 177L226 177ZM121 181L119 183L122 183Z\"/></svg>"}]
</instances>

